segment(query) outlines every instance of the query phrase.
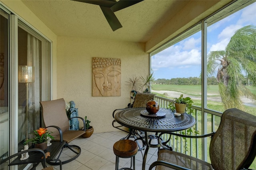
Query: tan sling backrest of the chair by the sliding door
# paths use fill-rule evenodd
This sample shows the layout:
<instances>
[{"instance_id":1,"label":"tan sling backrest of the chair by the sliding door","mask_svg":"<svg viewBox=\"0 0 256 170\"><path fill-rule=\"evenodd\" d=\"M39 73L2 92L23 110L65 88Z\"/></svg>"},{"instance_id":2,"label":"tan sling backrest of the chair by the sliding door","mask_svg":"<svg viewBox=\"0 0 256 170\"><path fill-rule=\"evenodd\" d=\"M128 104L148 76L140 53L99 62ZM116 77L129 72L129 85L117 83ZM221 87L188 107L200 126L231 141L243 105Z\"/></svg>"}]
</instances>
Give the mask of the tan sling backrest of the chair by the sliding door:
<instances>
[{"instance_id":1,"label":"tan sling backrest of the chair by the sliding door","mask_svg":"<svg viewBox=\"0 0 256 170\"><path fill-rule=\"evenodd\" d=\"M46 127L54 125L59 127L62 132L69 129L69 120L66 114L66 102L63 98L52 101L41 101L40 105L42 107L42 118ZM56 128L49 127L48 130L52 132L52 136L57 136L59 134Z\"/></svg>"}]
</instances>

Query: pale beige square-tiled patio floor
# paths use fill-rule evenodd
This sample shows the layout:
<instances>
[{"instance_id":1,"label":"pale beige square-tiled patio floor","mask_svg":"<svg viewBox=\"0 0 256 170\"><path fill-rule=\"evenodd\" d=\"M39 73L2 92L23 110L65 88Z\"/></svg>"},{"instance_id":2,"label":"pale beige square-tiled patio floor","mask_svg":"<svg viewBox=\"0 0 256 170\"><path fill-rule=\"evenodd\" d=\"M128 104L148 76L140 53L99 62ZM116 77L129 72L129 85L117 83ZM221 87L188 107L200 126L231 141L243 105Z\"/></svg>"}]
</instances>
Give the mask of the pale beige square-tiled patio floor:
<instances>
[{"instance_id":1,"label":"pale beige square-tiled patio floor","mask_svg":"<svg viewBox=\"0 0 256 170\"><path fill-rule=\"evenodd\" d=\"M62 165L62 170L114 170L116 156L113 152L113 145L116 141L127 135L126 132L105 132L94 133L90 138L78 138L73 140L70 144L75 144L81 147L82 152L76 160ZM72 156L73 152L64 149L60 160L65 160ZM144 151L139 151L136 158L136 170L142 169L142 155ZM147 156L146 170L150 164L157 160L157 148L150 148ZM47 165L49 166L49 165ZM120 158L120 168L130 167L130 158ZM59 170L59 166L54 166ZM41 170L42 165L38 165L36 170Z\"/></svg>"}]
</instances>

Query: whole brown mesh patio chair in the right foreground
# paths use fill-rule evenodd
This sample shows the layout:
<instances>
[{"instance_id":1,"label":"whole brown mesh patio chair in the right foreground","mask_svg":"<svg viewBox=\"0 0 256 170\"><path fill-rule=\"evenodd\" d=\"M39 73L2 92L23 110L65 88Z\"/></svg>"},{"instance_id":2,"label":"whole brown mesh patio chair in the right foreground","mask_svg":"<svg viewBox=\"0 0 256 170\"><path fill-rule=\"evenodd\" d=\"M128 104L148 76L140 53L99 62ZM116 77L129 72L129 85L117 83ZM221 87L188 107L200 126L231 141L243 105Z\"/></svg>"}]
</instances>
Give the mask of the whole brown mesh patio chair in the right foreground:
<instances>
[{"instance_id":1,"label":"whole brown mesh patio chair in the right foreground","mask_svg":"<svg viewBox=\"0 0 256 170\"><path fill-rule=\"evenodd\" d=\"M177 135L171 132L167 134ZM215 133L192 138L206 136L212 136L209 150L211 164L174 152L171 147L161 144L164 149L158 151L158 160L149 169L156 166L156 170L242 170L252 164L256 156L256 116L238 109L228 109L222 114L220 126Z\"/></svg>"}]
</instances>

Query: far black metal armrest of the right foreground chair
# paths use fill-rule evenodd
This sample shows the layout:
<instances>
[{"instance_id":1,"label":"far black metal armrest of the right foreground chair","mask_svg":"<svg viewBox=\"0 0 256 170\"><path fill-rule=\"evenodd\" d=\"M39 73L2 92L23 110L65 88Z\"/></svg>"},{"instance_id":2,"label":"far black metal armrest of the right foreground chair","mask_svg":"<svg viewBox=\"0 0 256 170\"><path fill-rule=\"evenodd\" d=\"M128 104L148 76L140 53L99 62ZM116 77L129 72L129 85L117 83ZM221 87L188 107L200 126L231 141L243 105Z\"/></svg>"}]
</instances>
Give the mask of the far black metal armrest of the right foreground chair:
<instances>
[{"instance_id":1,"label":"far black metal armrest of the right foreground chair","mask_svg":"<svg viewBox=\"0 0 256 170\"><path fill-rule=\"evenodd\" d=\"M184 137L184 138L205 138L205 137L208 137L208 136L213 136L215 134L215 132L212 132L212 133L209 133L209 134L203 134L203 135L198 135L198 136L191 136L191 135L184 135L184 134L178 134L178 133L173 133L173 132L162 132L159 134L158 136L158 143L160 144L160 146L162 146L162 148L164 149L169 149L169 150L172 150L170 146L168 146L166 143L169 142L170 140L170 136L169 136L169 139L166 141L166 142L162 142L162 138L161 136L163 134L170 134L171 135L174 135L174 136L180 136L180 137Z\"/></svg>"}]
</instances>

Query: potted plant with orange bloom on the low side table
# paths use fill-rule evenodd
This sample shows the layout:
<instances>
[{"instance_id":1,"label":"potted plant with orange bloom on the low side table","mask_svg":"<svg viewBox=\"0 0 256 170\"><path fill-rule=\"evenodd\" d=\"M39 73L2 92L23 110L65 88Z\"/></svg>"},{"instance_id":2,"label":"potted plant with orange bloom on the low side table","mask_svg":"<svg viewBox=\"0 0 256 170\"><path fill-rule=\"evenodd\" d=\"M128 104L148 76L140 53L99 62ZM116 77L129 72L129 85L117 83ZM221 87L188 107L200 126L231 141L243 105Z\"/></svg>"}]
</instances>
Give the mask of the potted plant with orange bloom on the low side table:
<instances>
[{"instance_id":1,"label":"potted plant with orange bloom on the low side table","mask_svg":"<svg viewBox=\"0 0 256 170\"><path fill-rule=\"evenodd\" d=\"M38 130L33 130L34 138L30 138L24 142L24 144L28 144L31 142L34 144L35 148L40 148L42 150L46 150L48 140L54 139L52 132L49 132L47 128L39 128Z\"/></svg>"}]
</instances>

